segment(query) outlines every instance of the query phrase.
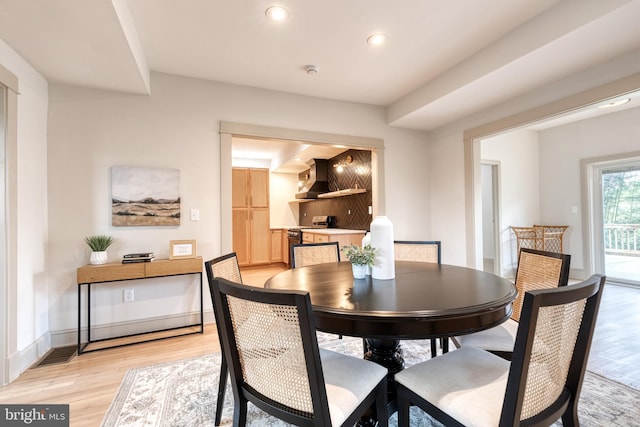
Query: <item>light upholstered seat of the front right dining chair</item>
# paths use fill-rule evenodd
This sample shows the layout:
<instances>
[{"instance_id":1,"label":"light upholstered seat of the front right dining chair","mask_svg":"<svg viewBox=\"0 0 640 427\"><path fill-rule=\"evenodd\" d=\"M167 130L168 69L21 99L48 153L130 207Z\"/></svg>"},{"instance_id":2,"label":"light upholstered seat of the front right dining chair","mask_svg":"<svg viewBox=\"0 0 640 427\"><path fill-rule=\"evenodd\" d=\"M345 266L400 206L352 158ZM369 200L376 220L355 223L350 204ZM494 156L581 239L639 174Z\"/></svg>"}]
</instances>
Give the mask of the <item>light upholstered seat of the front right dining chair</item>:
<instances>
[{"instance_id":1,"label":"light upholstered seat of the front right dining chair","mask_svg":"<svg viewBox=\"0 0 640 427\"><path fill-rule=\"evenodd\" d=\"M398 372L397 383L465 426L498 426L509 366L495 354L463 347ZM428 381L424 379L428 378Z\"/></svg>"}]
</instances>

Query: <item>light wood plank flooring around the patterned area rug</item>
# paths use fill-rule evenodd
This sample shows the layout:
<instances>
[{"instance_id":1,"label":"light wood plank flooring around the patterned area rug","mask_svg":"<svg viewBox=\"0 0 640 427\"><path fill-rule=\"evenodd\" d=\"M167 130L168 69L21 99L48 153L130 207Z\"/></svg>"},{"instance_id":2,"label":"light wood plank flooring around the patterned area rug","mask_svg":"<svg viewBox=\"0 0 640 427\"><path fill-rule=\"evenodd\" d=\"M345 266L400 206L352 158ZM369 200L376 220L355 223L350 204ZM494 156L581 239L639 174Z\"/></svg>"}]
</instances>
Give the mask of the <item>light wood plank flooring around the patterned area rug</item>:
<instances>
[{"instance_id":1,"label":"light wood plank flooring around the patterned area rug","mask_svg":"<svg viewBox=\"0 0 640 427\"><path fill-rule=\"evenodd\" d=\"M282 267L243 269L246 284L262 286ZM590 357L590 369L640 389L640 289L607 286ZM128 369L219 351L215 325L187 335L72 358L32 368L0 388L0 402L70 404L73 427L100 425Z\"/></svg>"}]
</instances>

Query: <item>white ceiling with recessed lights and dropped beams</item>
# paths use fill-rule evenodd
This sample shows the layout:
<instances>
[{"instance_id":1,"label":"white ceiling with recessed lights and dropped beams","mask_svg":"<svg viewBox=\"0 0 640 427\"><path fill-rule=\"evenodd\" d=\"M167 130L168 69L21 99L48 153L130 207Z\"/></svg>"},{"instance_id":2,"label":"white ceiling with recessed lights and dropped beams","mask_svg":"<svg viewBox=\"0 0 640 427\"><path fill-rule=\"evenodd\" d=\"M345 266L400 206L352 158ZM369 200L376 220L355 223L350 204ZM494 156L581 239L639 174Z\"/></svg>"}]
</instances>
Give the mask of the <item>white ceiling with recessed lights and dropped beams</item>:
<instances>
[{"instance_id":1,"label":"white ceiling with recessed lights and dropped beams","mask_svg":"<svg viewBox=\"0 0 640 427\"><path fill-rule=\"evenodd\" d=\"M0 38L52 83L148 94L158 71L433 130L640 50L638 17L640 0L0 0Z\"/></svg>"}]
</instances>

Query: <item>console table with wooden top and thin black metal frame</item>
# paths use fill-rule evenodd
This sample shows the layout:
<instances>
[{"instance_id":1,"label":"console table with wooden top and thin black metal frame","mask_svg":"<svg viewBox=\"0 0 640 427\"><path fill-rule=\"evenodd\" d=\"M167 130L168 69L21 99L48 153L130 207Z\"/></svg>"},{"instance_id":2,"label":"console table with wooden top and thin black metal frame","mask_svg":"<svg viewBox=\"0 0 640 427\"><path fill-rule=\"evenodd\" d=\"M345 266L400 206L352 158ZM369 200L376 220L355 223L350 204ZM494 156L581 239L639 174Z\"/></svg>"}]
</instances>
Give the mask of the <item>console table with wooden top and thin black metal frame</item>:
<instances>
[{"instance_id":1,"label":"console table with wooden top and thin black metal frame","mask_svg":"<svg viewBox=\"0 0 640 427\"><path fill-rule=\"evenodd\" d=\"M190 325L184 325L179 327L172 327L166 329L160 329L155 331L141 332L137 334L130 334L124 336L117 336L111 338L104 338L98 340L91 339L91 285L99 283L109 282L122 282L126 280L137 279L153 279L158 277L180 276L186 274L197 274L200 279L200 323L193 323ZM189 258L189 259L159 259L153 262L140 262L132 264L122 263L109 263L102 265L85 265L78 268L77 271L78 282L78 354L88 353L91 351L103 350L106 348L121 347L125 345L138 344L141 342L154 341L164 338L172 338L181 335L189 335L204 332L204 315L203 315L203 294L202 294L202 257ZM82 342L82 288L86 287L86 301L87 301L87 341ZM174 334L170 336L161 336L149 339L143 339L138 341L120 342L108 347L101 346L96 349L87 349L86 347L91 343L101 341L113 341L117 339L143 336L153 333L160 333L164 331L193 328L199 326L199 330L189 331L185 333Z\"/></svg>"}]
</instances>

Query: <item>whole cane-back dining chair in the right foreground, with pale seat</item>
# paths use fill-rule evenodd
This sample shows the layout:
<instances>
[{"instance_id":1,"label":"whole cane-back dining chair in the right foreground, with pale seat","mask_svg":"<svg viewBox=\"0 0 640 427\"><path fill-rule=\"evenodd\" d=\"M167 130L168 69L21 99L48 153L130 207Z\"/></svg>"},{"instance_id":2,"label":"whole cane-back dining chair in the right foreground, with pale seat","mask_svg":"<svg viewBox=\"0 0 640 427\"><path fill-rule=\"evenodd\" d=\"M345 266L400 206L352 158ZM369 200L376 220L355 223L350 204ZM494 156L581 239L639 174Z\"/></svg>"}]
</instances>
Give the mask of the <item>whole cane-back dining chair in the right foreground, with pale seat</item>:
<instances>
[{"instance_id":1,"label":"whole cane-back dining chair in the right foreground, with pale seat","mask_svg":"<svg viewBox=\"0 0 640 427\"><path fill-rule=\"evenodd\" d=\"M447 426L578 426L578 400L605 277L527 291L511 362L463 347L395 375L398 425L409 405Z\"/></svg>"}]
</instances>

